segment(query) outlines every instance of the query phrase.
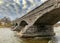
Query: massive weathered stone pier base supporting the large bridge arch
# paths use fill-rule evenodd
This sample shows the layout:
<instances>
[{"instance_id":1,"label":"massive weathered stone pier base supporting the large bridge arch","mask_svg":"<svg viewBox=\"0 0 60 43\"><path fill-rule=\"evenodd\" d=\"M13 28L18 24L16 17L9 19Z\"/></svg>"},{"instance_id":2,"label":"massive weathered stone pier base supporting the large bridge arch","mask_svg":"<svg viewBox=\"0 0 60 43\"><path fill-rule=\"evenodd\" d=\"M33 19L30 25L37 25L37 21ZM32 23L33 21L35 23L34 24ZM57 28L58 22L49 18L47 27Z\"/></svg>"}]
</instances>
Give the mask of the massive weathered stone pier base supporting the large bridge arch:
<instances>
[{"instance_id":1,"label":"massive weathered stone pier base supporting the large bridge arch","mask_svg":"<svg viewBox=\"0 0 60 43\"><path fill-rule=\"evenodd\" d=\"M52 26L44 25L44 26L30 26L22 29L18 36L23 38L34 38L34 37L52 37L54 36L54 31Z\"/></svg>"}]
</instances>

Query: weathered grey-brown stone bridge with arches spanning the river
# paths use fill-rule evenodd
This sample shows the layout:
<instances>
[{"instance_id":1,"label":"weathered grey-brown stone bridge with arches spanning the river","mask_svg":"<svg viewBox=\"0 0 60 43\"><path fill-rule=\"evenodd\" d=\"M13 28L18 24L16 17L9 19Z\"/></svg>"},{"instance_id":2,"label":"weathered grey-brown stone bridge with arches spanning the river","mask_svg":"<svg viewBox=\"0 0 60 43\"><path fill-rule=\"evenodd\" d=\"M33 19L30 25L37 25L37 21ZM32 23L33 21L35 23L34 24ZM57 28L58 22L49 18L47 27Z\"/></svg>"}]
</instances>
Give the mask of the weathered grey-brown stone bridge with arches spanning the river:
<instances>
[{"instance_id":1,"label":"weathered grey-brown stone bridge with arches spanning the river","mask_svg":"<svg viewBox=\"0 0 60 43\"><path fill-rule=\"evenodd\" d=\"M48 0L15 20L20 37L52 37L53 25L60 20L60 0Z\"/></svg>"}]
</instances>

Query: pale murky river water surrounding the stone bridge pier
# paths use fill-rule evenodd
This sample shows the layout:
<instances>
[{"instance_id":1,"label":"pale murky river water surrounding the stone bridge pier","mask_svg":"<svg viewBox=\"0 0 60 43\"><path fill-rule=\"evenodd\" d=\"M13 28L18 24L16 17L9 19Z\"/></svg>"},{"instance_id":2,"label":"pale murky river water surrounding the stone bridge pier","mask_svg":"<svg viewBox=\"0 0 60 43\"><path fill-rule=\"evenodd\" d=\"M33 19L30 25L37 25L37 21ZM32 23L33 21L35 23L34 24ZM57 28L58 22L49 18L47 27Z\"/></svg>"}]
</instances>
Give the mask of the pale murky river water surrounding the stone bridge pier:
<instances>
[{"instance_id":1,"label":"pale murky river water surrounding the stone bridge pier","mask_svg":"<svg viewBox=\"0 0 60 43\"><path fill-rule=\"evenodd\" d=\"M60 43L60 27L55 27L54 31L56 33L55 43ZM51 43L49 41L49 43ZM16 33L11 31L9 28L0 28L0 43L48 43L48 40L39 40L39 39L21 39L16 36Z\"/></svg>"}]
</instances>

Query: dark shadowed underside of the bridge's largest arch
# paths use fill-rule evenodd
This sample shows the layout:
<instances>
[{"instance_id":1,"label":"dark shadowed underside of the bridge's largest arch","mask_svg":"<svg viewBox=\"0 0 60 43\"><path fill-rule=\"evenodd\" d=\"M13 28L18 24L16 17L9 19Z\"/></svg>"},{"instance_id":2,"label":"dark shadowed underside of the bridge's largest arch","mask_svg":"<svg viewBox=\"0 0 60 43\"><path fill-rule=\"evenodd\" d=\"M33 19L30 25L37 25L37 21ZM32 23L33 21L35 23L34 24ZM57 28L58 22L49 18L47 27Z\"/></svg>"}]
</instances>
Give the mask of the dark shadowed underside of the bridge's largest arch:
<instances>
[{"instance_id":1,"label":"dark shadowed underside of the bridge's largest arch","mask_svg":"<svg viewBox=\"0 0 60 43\"><path fill-rule=\"evenodd\" d=\"M34 25L54 25L60 21L60 8L54 9L39 17Z\"/></svg>"}]
</instances>

